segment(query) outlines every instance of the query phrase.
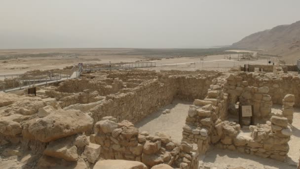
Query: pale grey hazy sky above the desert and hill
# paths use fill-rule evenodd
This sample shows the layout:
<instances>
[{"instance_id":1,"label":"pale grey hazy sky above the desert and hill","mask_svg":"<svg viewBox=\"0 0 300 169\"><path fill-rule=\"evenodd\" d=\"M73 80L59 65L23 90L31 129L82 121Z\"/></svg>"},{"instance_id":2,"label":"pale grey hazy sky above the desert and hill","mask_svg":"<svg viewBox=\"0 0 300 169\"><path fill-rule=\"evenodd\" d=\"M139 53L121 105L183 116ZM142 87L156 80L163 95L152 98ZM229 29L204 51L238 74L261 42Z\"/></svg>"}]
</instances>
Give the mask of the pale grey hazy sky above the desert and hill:
<instances>
[{"instance_id":1,"label":"pale grey hazy sky above the desert and hill","mask_svg":"<svg viewBox=\"0 0 300 169\"><path fill-rule=\"evenodd\" d=\"M300 20L300 0L0 0L0 48L197 48Z\"/></svg>"}]
</instances>

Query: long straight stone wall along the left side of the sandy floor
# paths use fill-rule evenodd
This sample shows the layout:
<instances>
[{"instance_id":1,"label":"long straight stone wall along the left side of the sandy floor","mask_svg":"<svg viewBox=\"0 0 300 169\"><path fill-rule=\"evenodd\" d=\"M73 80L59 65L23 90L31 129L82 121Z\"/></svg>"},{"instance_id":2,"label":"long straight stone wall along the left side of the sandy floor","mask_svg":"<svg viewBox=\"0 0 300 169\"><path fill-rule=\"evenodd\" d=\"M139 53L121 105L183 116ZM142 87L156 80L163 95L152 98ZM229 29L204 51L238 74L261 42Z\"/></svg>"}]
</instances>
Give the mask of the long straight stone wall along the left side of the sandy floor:
<instances>
[{"instance_id":1,"label":"long straight stone wall along the left side of the sandy floor","mask_svg":"<svg viewBox=\"0 0 300 169\"><path fill-rule=\"evenodd\" d=\"M105 116L116 117L118 122L128 120L137 123L158 108L170 104L176 94L174 81L159 83L156 79L124 93L107 95L101 104L90 110L99 121Z\"/></svg>"}]
</instances>

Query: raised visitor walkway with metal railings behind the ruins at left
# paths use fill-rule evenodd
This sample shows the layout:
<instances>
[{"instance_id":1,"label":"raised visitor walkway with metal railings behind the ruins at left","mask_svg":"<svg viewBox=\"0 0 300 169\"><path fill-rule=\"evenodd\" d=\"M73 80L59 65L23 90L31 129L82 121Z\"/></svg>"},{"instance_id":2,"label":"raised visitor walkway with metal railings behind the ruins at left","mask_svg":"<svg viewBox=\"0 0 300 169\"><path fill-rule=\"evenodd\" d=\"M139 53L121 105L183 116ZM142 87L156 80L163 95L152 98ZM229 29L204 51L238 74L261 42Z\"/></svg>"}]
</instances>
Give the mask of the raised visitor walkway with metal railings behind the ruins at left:
<instances>
[{"instance_id":1,"label":"raised visitor walkway with metal railings behind the ruins at left","mask_svg":"<svg viewBox=\"0 0 300 169\"><path fill-rule=\"evenodd\" d=\"M83 63L74 64L71 70L58 70L39 73L0 75L0 91L9 92L32 87L33 85L47 85L68 79L79 78L82 72L113 69L135 69L155 67L155 62L134 63Z\"/></svg>"}]
</instances>

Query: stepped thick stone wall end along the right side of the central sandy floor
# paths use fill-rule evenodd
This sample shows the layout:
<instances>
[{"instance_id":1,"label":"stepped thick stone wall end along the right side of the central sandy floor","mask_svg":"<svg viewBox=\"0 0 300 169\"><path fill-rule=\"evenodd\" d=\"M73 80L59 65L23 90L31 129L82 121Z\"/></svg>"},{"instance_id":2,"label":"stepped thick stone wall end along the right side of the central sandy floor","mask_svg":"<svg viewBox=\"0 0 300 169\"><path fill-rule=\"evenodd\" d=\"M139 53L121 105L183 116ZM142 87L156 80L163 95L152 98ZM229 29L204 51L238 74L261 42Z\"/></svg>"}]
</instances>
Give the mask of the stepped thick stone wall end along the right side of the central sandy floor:
<instances>
[{"instance_id":1,"label":"stepped thick stone wall end along the right side of the central sandy floor","mask_svg":"<svg viewBox=\"0 0 300 169\"><path fill-rule=\"evenodd\" d=\"M183 140L198 145L204 154L212 143L220 140L216 126L227 117L227 94L222 91L222 77L213 79L204 100L195 99L190 105L186 125L183 127Z\"/></svg>"}]
</instances>

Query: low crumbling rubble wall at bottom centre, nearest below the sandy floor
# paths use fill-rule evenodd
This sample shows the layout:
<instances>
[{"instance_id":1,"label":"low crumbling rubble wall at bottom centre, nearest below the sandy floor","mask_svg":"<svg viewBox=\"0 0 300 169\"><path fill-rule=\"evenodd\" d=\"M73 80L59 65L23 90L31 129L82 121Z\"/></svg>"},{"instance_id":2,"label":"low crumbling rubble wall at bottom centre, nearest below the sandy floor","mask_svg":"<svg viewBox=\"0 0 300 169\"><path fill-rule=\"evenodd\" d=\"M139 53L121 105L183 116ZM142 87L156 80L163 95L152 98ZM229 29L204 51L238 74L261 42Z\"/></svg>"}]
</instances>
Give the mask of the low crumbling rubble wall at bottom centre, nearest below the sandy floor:
<instances>
[{"instance_id":1,"label":"low crumbling rubble wall at bottom centre, nearest below the sandy floor","mask_svg":"<svg viewBox=\"0 0 300 169\"><path fill-rule=\"evenodd\" d=\"M132 123L116 123L113 117L95 124L90 141L101 145L100 157L104 159L139 161L149 168L162 163L180 169L198 168L197 145L175 142L160 132L155 135L139 132Z\"/></svg>"}]
</instances>

